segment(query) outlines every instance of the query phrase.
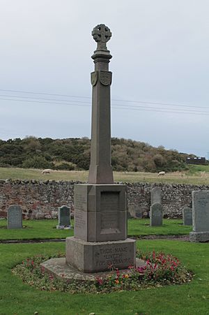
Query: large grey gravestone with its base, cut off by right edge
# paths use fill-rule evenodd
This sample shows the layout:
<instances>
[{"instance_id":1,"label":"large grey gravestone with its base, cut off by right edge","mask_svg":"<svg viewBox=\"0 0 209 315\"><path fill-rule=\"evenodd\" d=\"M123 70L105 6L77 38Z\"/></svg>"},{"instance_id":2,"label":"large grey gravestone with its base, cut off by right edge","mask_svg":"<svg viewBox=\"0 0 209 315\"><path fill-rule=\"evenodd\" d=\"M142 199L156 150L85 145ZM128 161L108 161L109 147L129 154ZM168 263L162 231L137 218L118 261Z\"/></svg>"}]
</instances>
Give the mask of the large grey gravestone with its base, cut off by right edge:
<instances>
[{"instance_id":1,"label":"large grey gravestone with its base, cut off by right edge","mask_svg":"<svg viewBox=\"0 0 209 315\"><path fill-rule=\"evenodd\" d=\"M193 231L190 242L209 241L209 191L192 191Z\"/></svg>"}]
</instances>

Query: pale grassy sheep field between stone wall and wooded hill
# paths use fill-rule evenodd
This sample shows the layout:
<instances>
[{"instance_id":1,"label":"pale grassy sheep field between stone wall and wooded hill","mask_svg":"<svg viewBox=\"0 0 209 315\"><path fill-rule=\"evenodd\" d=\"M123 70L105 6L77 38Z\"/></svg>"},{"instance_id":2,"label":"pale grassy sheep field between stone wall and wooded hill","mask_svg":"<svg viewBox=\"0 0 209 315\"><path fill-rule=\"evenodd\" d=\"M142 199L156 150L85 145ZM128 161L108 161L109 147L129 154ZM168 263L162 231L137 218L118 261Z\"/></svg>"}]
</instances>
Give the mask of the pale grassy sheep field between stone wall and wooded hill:
<instances>
[{"instance_id":1,"label":"pale grassy sheep field between stone wall and wooded hill","mask_svg":"<svg viewBox=\"0 0 209 315\"><path fill-rule=\"evenodd\" d=\"M54 170L51 174L43 175L41 170L26 168L0 168L0 179L19 180L77 180L86 182L88 171ZM175 184L209 184L209 166L189 166L187 172L167 173L163 177L157 173L114 172L115 182L162 182Z\"/></svg>"}]
</instances>

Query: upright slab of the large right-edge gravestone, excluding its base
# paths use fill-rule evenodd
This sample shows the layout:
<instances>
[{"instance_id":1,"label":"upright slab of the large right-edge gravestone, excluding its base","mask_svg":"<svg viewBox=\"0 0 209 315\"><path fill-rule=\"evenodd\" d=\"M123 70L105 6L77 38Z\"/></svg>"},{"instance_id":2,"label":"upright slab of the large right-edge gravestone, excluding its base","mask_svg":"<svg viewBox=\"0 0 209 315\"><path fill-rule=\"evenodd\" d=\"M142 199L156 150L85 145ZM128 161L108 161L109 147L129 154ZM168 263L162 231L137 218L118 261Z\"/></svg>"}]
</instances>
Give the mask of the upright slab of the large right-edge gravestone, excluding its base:
<instances>
[{"instance_id":1,"label":"upright slab of the large right-edge gravestone, excluding its base","mask_svg":"<svg viewBox=\"0 0 209 315\"><path fill-rule=\"evenodd\" d=\"M194 232L207 232L209 230L209 191L193 191L192 203Z\"/></svg>"}]
</instances>

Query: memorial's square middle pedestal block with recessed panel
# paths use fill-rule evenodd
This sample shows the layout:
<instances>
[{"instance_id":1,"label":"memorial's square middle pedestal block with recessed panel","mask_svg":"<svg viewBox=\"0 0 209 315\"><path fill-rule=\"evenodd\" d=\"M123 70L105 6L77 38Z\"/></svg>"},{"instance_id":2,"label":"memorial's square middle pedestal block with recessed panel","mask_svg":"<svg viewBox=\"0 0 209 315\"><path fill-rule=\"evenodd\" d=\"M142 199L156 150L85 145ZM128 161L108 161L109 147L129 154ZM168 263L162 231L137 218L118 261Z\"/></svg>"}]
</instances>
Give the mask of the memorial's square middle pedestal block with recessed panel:
<instances>
[{"instance_id":1,"label":"memorial's square middle pedestal block with recessed panel","mask_svg":"<svg viewBox=\"0 0 209 315\"><path fill-rule=\"evenodd\" d=\"M125 185L75 185L75 237L86 242L127 238Z\"/></svg>"}]
</instances>

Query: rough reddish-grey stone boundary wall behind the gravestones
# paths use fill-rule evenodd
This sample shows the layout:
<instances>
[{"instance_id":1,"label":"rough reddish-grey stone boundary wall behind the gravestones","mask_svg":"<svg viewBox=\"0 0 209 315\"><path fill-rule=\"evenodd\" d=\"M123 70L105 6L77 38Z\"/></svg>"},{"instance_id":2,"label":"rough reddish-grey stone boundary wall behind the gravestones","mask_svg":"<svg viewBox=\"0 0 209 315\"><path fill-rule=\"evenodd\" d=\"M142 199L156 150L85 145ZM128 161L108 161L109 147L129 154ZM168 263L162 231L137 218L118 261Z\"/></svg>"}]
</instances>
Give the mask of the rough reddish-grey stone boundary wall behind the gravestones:
<instances>
[{"instance_id":1,"label":"rough reddish-grey stone boundary wall behind the gravestones","mask_svg":"<svg viewBox=\"0 0 209 315\"><path fill-rule=\"evenodd\" d=\"M58 207L61 205L68 205L73 212L74 184L78 183L54 180L0 180L0 217L7 217L10 205L20 205L25 219L57 218ZM209 190L209 186L206 185L125 184L128 205L141 207L143 217L148 217L150 190L155 186L162 189L164 218L182 218L183 207L192 205L192 191Z\"/></svg>"}]
</instances>

